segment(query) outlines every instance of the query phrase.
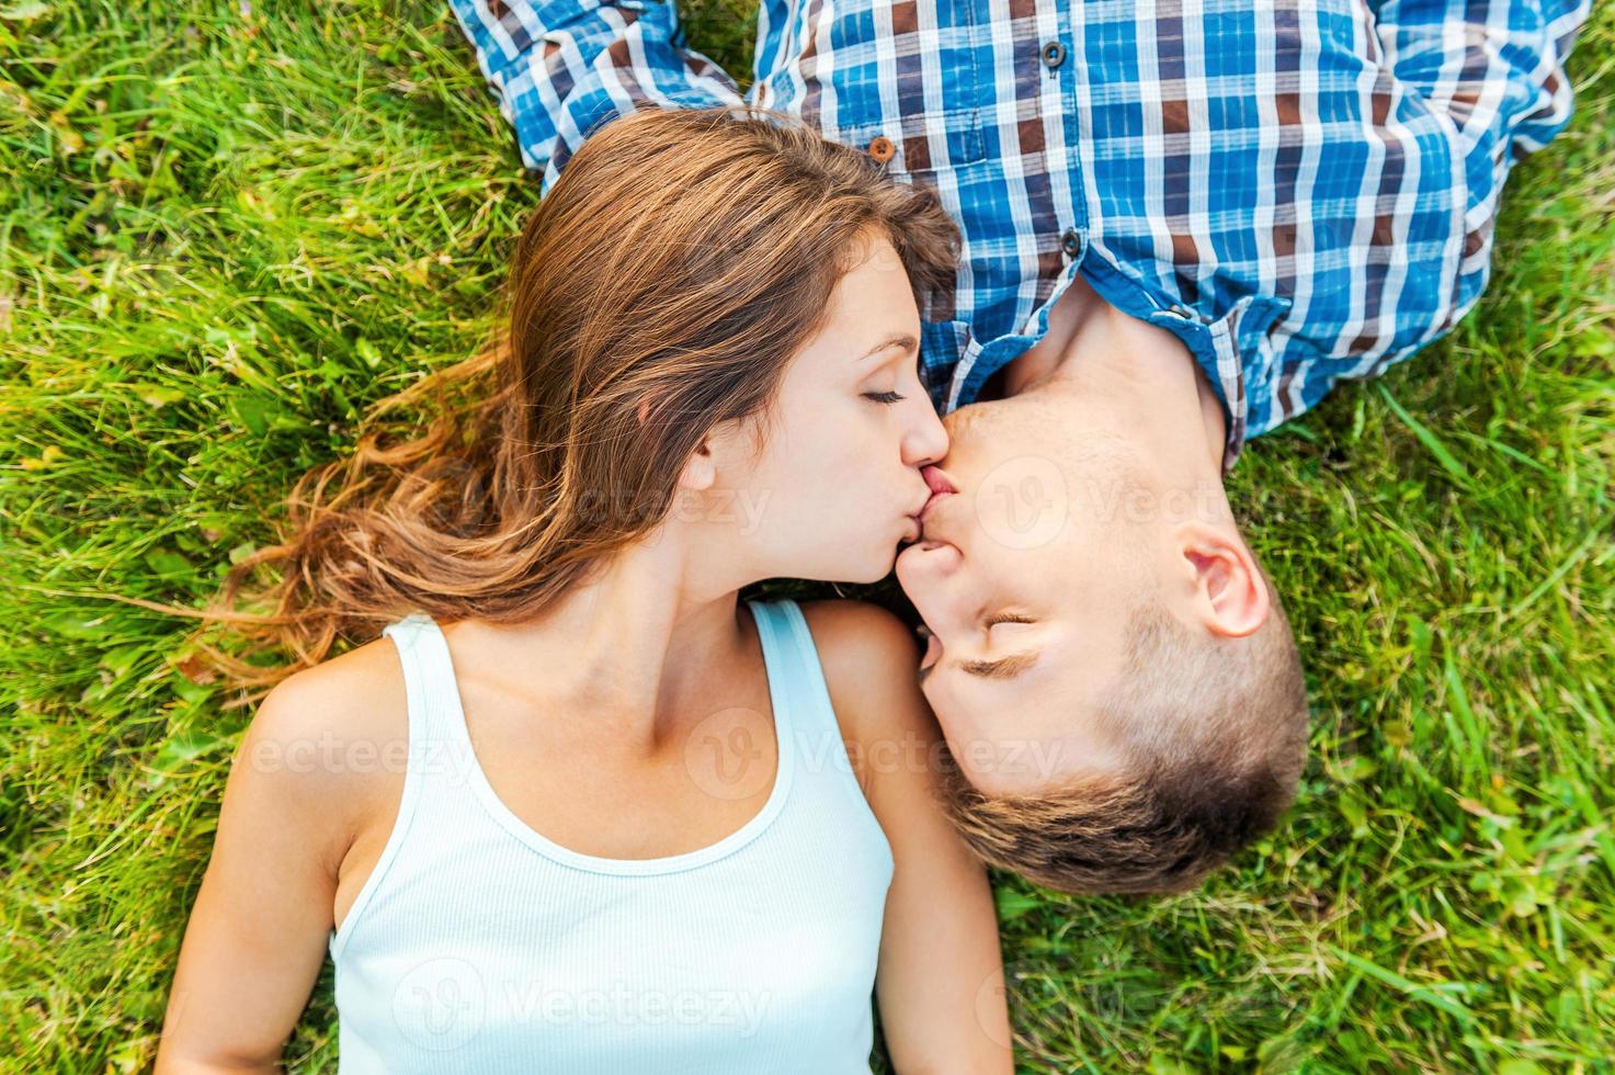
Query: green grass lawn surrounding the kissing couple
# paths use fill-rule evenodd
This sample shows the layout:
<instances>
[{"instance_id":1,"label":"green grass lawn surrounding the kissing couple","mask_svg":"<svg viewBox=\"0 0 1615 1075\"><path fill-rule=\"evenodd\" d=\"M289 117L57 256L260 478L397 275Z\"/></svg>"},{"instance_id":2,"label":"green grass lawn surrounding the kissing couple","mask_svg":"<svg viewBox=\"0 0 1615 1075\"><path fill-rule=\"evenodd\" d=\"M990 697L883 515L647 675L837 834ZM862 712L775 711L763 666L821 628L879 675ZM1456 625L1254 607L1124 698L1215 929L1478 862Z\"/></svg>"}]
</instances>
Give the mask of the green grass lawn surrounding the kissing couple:
<instances>
[{"instance_id":1,"label":"green grass lawn surrounding the kissing couple","mask_svg":"<svg viewBox=\"0 0 1615 1075\"><path fill-rule=\"evenodd\" d=\"M691 40L749 66L745 0ZM394 10L401 8L401 10ZM360 411L481 338L536 179L444 5L0 0L0 1057L150 1064L245 713L200 605ZM1255 441L1315 698L1205 889L996 878L1027 1070L1609 1070L1615 18L1442 344ZM896 600L891 587L870 592ZM334 1060L329 975L289 1057ZM6 1060L0 1060L6 1064Z\"/></svg>"}]
</instances>

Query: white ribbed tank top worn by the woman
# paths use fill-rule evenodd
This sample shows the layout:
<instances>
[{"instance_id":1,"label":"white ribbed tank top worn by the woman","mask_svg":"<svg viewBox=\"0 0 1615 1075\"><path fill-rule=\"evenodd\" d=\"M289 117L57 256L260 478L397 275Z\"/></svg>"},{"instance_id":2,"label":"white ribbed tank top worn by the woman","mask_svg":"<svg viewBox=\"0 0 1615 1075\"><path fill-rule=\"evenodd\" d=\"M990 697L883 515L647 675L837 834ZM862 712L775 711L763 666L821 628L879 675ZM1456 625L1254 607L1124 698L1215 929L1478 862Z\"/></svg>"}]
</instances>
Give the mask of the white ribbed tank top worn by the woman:
<instances>
[{"instance_id":1,"label":"white ribbed tank top worn by the woman","mask_svg":"<svg viewBox=\"0 0 1615 1075\"><path fill-rule=\"evenodd\" d=\"M476 763L438 624L388 624L410 748L397 821L329 939L342 1072L869 1070L891 849L801 609L748 606L772 792L662 858L578 854L518 820Z\"/></svg>"}]
</instances>

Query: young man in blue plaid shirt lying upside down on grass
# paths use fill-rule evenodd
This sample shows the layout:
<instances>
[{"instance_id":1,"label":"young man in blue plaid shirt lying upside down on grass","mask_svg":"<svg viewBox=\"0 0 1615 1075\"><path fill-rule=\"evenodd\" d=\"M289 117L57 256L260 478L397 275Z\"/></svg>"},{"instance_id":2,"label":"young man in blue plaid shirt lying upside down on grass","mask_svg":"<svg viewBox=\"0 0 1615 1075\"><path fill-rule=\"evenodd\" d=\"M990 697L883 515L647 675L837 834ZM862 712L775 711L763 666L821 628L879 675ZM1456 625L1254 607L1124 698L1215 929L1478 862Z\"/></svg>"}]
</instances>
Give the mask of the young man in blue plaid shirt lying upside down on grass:
<instances>
[{"instance_id":1,"label":"young man in blue plaid shirt lying upside down on grass","mask_svg":"<svg viewBox=\"0 0 1615 1075\"><path fill-rule=\"evenodd\" d=\"M622 112L759 103L959 223L898 579L972 845L1171 891L1269 828L1307 700L1223 475L1473 307L1588 0L766 0L745 95L672 3L452 3L543 189Z\"/></svg>"}]
</instances>

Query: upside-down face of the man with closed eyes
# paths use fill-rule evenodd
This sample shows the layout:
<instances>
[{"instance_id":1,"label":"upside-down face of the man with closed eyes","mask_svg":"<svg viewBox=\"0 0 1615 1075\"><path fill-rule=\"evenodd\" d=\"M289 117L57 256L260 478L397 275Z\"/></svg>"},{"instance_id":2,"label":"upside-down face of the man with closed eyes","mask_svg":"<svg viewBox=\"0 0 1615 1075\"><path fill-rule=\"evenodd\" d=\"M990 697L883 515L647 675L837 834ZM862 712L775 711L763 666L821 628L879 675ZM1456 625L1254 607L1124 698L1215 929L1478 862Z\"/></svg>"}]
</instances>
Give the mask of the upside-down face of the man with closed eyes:
<instances>
[{"instance_id":1,"label":"upside-down face of the man with closed eyes","mask_svg":"<svg viewBox=\"0 0 1615 1075\"><path fill-rule=\"evenodd\" d=\"M896 574L930 629L921 685L948 747L987 794L1108 768L1118 744L1084 715L1121 666L1153 533L1127 517L1113 435L1074 433L1038 393L943 422L940 491Z\"/></svg>"}]
</instances>

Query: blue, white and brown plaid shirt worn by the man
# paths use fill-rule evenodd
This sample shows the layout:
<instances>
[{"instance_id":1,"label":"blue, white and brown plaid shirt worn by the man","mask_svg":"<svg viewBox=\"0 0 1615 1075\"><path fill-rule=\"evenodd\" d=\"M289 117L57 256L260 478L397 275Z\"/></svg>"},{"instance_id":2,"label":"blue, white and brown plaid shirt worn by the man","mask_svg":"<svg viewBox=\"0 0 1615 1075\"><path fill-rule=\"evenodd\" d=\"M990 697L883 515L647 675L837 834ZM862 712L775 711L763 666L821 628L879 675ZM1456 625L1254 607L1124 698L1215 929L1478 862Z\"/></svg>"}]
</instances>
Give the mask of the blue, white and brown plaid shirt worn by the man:
<instances>
[{"instance_id":1,"label":"blue, white and brown plaid shirt worn by the man","mask_svg":"<svg viewBox=\"0 0 1615 1075\"><path fill-rule=\"evenodd\" d=\"M764 0L745 94L672 0L451 3L541 191L631 108L803 116L963 230L922 310L938 411L1080 267L1184 339L1232 466L1474 306L1508 168L1570 118L1589 0Z\"/></svg>"}]
</instances>

